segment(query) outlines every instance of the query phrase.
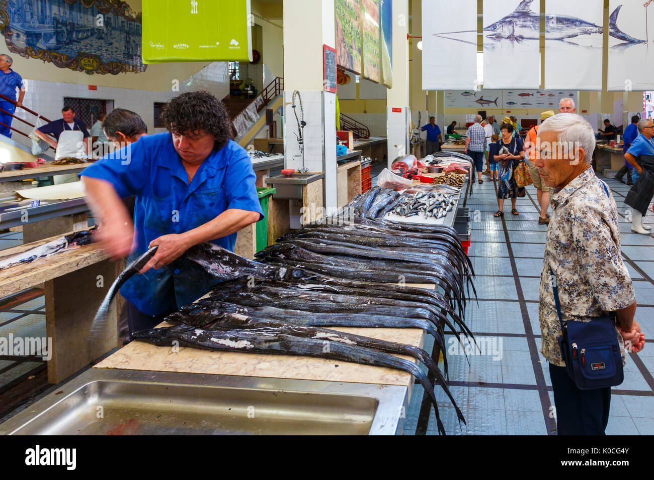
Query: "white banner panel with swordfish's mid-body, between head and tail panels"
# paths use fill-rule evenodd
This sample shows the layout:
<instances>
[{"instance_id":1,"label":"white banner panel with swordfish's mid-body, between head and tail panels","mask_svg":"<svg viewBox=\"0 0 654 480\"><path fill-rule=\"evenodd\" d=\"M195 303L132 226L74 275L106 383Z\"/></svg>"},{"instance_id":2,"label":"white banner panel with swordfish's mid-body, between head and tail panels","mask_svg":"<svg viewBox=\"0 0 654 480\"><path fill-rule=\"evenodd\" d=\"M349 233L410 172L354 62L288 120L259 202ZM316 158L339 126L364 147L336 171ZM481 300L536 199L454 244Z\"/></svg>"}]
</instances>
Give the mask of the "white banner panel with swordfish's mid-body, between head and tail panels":
<instances>
[{"instance_id":1,"label":"white banner panel with swordfish's mid-body, between head and tail panels","mask_svg":"<svg viewBox=\"0 0 654 480\"><path fill-rule=\"evenodd\" d=\"M547 0L545 88L602 89L603 20L601 1Z\"/></svg>"}]
</instances>

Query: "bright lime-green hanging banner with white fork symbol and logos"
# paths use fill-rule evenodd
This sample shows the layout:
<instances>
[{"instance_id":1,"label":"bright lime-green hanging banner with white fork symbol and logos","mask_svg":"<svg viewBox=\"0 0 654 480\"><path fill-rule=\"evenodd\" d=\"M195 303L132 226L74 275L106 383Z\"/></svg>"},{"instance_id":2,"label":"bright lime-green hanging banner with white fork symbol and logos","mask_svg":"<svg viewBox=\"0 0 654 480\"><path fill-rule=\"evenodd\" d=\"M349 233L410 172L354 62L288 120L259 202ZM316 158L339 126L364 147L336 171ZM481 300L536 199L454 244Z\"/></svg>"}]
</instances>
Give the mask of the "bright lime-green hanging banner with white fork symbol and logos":
<instances>
[{"instance_id":1,"label":"bright lime-green hanging banner with white fork symbol and logos","mask_svg":"<svg viewBox=\"0 0 654 480\"><path fill-rule=\"evenodd\" d=\"M143 0L143 63L252 61L250 0Z\"/></svg>"}]
</instances>

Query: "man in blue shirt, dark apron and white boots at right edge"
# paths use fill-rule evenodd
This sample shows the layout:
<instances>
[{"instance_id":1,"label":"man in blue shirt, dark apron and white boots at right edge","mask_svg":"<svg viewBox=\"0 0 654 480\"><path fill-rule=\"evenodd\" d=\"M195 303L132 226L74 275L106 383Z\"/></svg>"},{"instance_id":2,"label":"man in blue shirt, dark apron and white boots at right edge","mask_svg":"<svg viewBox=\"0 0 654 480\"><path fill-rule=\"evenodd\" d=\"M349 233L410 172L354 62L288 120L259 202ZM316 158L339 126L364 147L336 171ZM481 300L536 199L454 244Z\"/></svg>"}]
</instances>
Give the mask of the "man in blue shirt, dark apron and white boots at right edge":
<instances>
[{"instance_id":1,"label":"man in blue shirt, dark apron and white boots at right edge","mask_svg":"<svg viewBox=\"0 0 654 480\"><path fill-rule=\"evenodd\" d=\"M631 143L631 146L625 153L625 160L634 167L634 172L631 174L631 179L634 182L634 186L631 187L631 191L634 191L634 188L638 188L639 185L636 185L638 178L643 173L643 170L649 170L649 172L654 172L654 142L652 142L652 137L654 136L654 122L651 120L640 120L638 122L638 136ZM648 172L648 173L649 173ZM642 190L642 189L639 189ZM636 197L640 199L641 192L636 190ZM647 205L651 202L652 197L654 196L654 191L642 191L642 197L647 200ZM627 195L629 197L629 195ZM635 199L634 199L635 200ZM631 214L631 231L636 233L642 233L649 235L649 230L651 227L649 225L643 225L643 213L638 212L636 208L632 209Z\"/></svg>"}]
</instances>

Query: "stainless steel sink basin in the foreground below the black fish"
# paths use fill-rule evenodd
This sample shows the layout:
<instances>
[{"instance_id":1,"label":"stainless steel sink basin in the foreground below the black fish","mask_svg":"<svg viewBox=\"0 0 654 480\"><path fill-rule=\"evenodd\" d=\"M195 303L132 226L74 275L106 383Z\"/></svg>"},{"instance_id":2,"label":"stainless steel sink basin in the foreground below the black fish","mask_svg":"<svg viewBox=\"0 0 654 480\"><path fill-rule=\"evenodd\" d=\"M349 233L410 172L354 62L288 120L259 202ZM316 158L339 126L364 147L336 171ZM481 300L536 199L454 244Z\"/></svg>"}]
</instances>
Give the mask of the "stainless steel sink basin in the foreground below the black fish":
<instances>
[{"instance_id":1,"label":"stainless steel sink basin in the foreground below the black fish","mask_svg":"<svg viewBox=\"0 0 654 480\"><path fill-rule=\"evenodd\" d=\"M407 387L92 368L0 434L398 434Z\"/></svg>"}]
</instances>

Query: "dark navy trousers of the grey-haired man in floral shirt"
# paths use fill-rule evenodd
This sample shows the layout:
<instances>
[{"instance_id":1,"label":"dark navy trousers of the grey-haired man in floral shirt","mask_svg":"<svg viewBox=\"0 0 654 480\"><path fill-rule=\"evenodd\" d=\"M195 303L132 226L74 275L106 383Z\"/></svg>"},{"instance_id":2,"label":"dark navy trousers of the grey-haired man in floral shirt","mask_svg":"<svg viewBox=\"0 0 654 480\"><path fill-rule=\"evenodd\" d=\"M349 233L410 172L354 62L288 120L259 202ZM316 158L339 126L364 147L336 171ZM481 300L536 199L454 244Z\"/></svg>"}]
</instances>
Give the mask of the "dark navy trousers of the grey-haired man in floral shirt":
<instances>
[{"instance_id":1,"label":"dark navy trousers of the grey-haired man in floral shirt","mask_svg":"<svg viewBox=\"0 0 654 480\"><path fill-rule=\"evenodd\" d=\"M559 435L606 435L611 387L579 390L565 367L549 364Z\"/></svg>"}]
</instances>

